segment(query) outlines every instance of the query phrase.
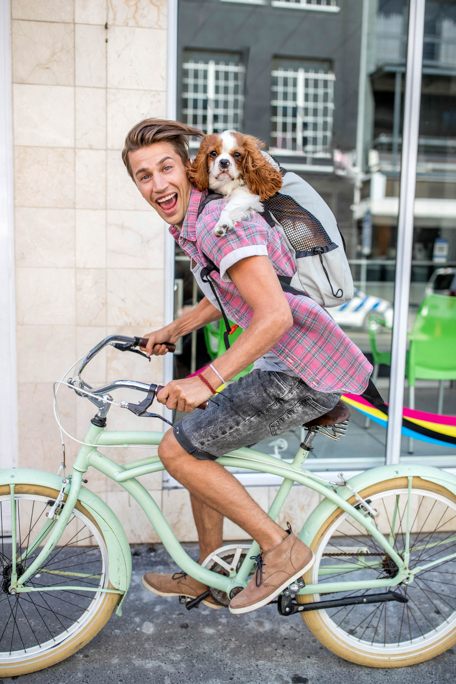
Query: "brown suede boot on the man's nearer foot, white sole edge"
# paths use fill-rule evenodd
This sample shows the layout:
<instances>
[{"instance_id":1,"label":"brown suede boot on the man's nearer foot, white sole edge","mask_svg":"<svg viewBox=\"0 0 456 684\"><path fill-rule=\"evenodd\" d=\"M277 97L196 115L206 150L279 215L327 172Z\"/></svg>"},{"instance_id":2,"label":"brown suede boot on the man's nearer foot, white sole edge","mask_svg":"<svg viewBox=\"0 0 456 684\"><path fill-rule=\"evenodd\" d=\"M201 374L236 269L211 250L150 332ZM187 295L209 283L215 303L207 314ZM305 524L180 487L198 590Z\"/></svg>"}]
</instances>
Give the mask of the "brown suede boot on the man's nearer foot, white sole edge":
<instances>
[{"instance_id":1,"label":"brown suede boot on the man's nearer foot, white sole edge","mask_svg":"<svg viewBox=\"0 0 456 684\"><path fill-rule=\"evenodd\" d=\"M266 605L314 564L312 551L293 534L290 523L286 524L289 536L255 557L256 573L245 589L230 601L230 613L250 613Z\"/></svg>"}]
</instances>

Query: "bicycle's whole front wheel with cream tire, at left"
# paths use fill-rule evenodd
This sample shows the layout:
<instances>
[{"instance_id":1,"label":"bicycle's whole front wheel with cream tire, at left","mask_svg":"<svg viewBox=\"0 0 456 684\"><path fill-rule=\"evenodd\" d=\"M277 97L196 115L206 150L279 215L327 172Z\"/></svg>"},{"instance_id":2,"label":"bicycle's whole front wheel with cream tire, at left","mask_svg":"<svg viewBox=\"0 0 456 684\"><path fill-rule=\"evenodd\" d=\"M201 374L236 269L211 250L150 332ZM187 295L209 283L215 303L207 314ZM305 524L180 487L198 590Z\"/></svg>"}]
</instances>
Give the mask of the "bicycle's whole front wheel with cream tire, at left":
<instances>
[{"instance_id":1,"label":"bicycle's whole front wheel with cream tire, at left","mask_svg":"<svg viewBox=\"0 0 456 684\"><path fill-rule=\"evenodd\" d=\"M0 487L0 677L35 672L72 655L98 633L119 600L119 594L99 591L109 588L107 546L79 501L59 545L25 583L36 591L10 594L13 558L20 577L49 535L46 513L57 495L16 484L12 496L9 486Z\"/></svg>"}]
</instances>

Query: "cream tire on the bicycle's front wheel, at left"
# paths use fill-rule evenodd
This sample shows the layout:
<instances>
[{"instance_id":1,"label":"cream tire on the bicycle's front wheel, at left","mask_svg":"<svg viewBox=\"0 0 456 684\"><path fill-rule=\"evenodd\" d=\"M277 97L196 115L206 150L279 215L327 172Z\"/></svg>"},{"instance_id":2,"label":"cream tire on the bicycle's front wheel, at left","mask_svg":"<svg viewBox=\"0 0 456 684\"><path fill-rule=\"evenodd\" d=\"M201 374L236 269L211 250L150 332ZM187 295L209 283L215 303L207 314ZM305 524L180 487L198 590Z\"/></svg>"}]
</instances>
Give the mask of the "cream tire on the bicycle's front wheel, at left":
<instances>
[{"instance_id":1,"label":"cream tire on the bicycle's front wheel, at left","mask_svg":"<svg viewBox=\"0 0 456 684\"><path fill-rule=\"evenodd\" d=\"M35 494L40 496L45 496L55 499L58 495L58 491L49 487L34 486L31 484L16 484L14 487L14 492L18 494ZM0 496L8 495L10 493L10 487L8 485L0 486ZM90 521L96 525L94 518L90 515L88 510L86 510L83 505L78 501L75 508L83 513L85 516L90 518ZM106 545L103 538L103 534L100 531L98 525L98 532ZM108 588L113 588L109 583ZM55 663L68 658L77 650L88 644L90 640L98 634L100 629L104 627L106 622L109 620L113 611L116 609L119 602L119 594L105 594L105 598L101 601L98 609L94 613L92 620L85 625L84 629L78 631L75 635L70 638L70 640L64 642L57 648L43 655L35 655L30 657L30 659L21 659L18 663L11 663L8 666L0 665L0 677L12 677L21 674L29 674L30 672L37 672L37 670L43 670L44 668L49 668Z\"/></svg>"}]
</instances>

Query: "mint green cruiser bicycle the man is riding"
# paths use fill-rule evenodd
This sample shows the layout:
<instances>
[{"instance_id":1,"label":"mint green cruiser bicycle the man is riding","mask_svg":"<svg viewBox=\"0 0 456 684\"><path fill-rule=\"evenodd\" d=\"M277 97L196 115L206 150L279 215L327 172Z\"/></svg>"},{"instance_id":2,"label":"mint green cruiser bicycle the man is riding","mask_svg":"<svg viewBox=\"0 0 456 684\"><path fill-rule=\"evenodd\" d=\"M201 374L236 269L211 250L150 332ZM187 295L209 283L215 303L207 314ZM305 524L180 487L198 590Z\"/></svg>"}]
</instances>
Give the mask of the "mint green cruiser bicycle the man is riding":
<instances>
[{"instance_id":1,"label":"mint green cruiser bicycle the man is riding","mask_svg":"<svg viewBox=\"0 0 456 684\"><path fill-rule=\"evenodd\" d=\"M108 432L113 390L147 393L141 404L120 406L138 416L157 386L118 380L96 389L81 373L108 344L135 351L138 338L108 337L86 356L68 386L98 411L68 477L44 471L0 471L0 676L46 668L87 644L113 611L121 614L129 588L131 553L116 515L83 486L90 468L122 484L155 527L185 573L228 605L247 583L256 542L229 544L202 566L191 560L157 504L137 480L163 470L158 456L119 465L100 453L112 445L158 445L161 432ZM371 667L400 667L432 658L456 642L456 477L431 466L381 466L348 482L327 482L303 469L318 433L339 438L348 409L339 405L308 423L293 462L254 449L219 458L282 477L269 509L276 518L293 484L323 496L299 531L316 555L304 582L276 602L280 616L301 613L319 641L337 655ZM306 490L304 490L306 491ZM305 496L305 494L303 494ZM304 586L303 586L304 585ZM207 594L187 601L194 607Z\"/></svg>"}]
</instances>

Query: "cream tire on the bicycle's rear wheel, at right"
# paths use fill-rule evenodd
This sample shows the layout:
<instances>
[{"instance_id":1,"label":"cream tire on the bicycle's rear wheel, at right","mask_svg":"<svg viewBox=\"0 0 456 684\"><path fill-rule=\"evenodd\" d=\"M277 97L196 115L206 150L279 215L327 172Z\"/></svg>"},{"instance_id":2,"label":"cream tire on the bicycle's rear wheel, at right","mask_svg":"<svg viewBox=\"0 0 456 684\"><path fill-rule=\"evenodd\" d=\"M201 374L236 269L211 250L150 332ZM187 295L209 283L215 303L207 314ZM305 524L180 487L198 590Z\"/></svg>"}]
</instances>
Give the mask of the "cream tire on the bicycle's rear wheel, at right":
<instances>
[{"instance_id":1,"label":"cream tire on the bicycle's rear wheel, at right","mask_svg":"<svg viewBox=\"0 0 456 684\"><path fill-rule=\"evenodd\" d=\"M366 499L369 496L373 496L379 492L403 489L407 488L407 486L407 478L401 477L397 479L385 480L384 482L378 482L377 484L371 485L359 493L364 499ZM434 494L439 494L456 503L455 495L453 495L444 487L433 482L423 480L420 477L414 477L412 486L420 490L427 490L429 492L433 492ZM353 504L355 502L355 497L349 499L349 503ZM325 523L323 523L317 534L314 536L312 544L310 544L310 548L314 553L317 553L320 540L325 535L327 529L330 527L330 525L332 525L332 523L334 523L336 518L343 513L344 511L338 508L329 518L327 518ZM310 573L306 573L304 581L306 581L306 583L310 583ZM298 595L296 598L298 603L310 603L311 601L317 600L317 596ZM416 651L412 651L407 655L398 654L397 657L392 657L391 655L385 655L384 657L381 657L377 654L369 653L368 650L364 648L358 649L341 642L337 638L336 634L328 629L327 624L325 624L321 615L323 612L324 611L319 610L308 611L306 613L302 613L301 617L304 622L306 622L307 627L310 629L312 634L317 637L323 646L326 646L326 648L331 650L332 653L335 653L351 663L367 666L369 668L403 668L407 665L423 663L424 661L430 660L436 655L443 653L447 648L450 648L456 643L456 629L454 629L451 633L447 634L445 637L442 637L441 641L438 641L430 646L430 648L423 650L422 644L421 646L416 647Z\"/></svg>"}]
</instances>

